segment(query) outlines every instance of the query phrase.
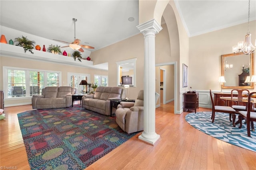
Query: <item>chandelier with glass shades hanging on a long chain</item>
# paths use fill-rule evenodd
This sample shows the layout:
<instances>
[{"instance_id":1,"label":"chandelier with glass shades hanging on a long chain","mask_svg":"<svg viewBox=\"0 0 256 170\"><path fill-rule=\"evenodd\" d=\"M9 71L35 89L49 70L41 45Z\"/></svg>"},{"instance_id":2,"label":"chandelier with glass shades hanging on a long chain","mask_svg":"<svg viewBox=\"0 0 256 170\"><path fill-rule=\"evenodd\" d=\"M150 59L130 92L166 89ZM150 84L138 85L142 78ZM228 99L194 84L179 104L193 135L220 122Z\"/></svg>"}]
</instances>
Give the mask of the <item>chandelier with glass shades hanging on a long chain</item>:
<instances>
[{"instance_id":1,"label":"chandelier with glass shades hanging on a long chain","mask_svg":"<svg viewBox=\"0 0 256 170\"><path fill-rule=\"evenodd\" d=\"M249 7L248 7L248 31L245 35L245 42L239 41L237 45L233 46L233 53L244 53L246 55L254 53L254 50L256 49L256 40L255 40L255 46L251 43L251 34L249 31L249 23L250 23L250 0L249 0Z\"/></svg>"}]
</instances>

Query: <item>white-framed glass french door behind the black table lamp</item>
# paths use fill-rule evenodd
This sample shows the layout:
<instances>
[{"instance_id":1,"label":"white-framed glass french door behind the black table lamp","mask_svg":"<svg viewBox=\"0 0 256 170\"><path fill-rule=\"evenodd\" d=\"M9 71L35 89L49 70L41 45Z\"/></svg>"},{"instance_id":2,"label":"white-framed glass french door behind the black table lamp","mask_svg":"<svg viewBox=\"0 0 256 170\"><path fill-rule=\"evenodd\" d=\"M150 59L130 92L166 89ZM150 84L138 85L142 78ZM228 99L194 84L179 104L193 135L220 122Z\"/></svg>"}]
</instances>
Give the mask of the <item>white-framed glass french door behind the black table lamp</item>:
<instances>
[{"instance_id":1,"label":"white-framed glass french door behind the black table lamp","mask_svg":"<svg viewBox=\"0 0 256 170\"><path fill-rule=\"evenodd\" d=\"M82 90L89 90L88 86L79 85L82 80L86 80L86 82L89 83L90 74L68 73L68 84L75 89L75 94L81 94Z\"/></svg>"}]
</instances>

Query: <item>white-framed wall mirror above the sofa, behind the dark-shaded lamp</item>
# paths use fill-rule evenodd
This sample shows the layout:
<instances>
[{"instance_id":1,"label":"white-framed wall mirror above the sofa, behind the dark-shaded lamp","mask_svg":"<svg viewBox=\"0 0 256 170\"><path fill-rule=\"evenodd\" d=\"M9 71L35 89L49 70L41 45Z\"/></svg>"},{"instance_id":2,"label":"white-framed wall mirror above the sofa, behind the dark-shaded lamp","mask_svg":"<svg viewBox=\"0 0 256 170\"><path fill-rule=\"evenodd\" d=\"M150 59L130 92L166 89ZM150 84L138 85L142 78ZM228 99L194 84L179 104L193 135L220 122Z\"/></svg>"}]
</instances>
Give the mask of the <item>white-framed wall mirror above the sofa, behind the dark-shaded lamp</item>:
<instances>
[{"instance_id":1,"label":"white-framed wall mirror above the sofa, behind the dark-shaded lamp","mask_svg":"<svg viewBox=\"0 0 256 170\"><path fill-rule=\"evenodd\" d=\"M118 61L117 65L117 86L122 85L122 76L132 77L132 84L130 86L136 86L136 58Z\"/></svg>"}]
</instances>

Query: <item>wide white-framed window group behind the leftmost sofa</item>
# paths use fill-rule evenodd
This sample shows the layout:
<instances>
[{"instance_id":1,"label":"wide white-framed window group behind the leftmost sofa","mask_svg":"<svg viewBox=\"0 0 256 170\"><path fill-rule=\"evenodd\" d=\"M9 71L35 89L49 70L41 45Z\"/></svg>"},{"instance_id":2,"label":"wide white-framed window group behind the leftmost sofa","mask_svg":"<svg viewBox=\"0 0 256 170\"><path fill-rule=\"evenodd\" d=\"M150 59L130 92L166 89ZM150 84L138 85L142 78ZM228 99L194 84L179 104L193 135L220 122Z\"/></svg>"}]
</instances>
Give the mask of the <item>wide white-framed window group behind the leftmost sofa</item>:
<instances>
[{"instance_id":1,"label":"wide white-framed window group behind the leftmost sofa","mask_svg":"<svg viewBox=\"0 0 256 170\"><path fill-rule=\"evenodd\" d=\"M46 86L60 85L60 72L3 67L5 98L39 95Z\"/></svg>"}]
</instances>

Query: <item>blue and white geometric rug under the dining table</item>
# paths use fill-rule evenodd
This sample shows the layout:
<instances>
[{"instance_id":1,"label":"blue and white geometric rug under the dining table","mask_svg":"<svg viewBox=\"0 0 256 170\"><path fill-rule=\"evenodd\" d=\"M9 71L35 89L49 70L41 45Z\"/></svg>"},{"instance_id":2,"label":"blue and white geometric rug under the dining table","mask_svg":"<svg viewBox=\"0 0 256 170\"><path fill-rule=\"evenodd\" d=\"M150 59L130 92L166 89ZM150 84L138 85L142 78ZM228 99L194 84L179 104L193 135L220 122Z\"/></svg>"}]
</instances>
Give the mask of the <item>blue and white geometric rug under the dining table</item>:
<instances>
[{"instance_id":1,"label":"blue and white geometric rug under the dining table","mask_svg":"<svg viewBox=\"0 0 256 170\"><path fill-rule=\"evenodd\" d=\"M233 127L232 122L229 121L229 114L215 113L214 123L212 123L212 112L197 112L189 113L185 116L186 121L194 128L244 149L256 152L256 131L251 131L251 137L247 136L246 125L243 121L243 126L239 129L239 125ZM236 116L236 120L238 115ZM254 122L254 127L256 123Z\"/></svg>"}]
</instances>

